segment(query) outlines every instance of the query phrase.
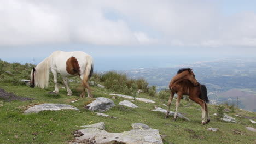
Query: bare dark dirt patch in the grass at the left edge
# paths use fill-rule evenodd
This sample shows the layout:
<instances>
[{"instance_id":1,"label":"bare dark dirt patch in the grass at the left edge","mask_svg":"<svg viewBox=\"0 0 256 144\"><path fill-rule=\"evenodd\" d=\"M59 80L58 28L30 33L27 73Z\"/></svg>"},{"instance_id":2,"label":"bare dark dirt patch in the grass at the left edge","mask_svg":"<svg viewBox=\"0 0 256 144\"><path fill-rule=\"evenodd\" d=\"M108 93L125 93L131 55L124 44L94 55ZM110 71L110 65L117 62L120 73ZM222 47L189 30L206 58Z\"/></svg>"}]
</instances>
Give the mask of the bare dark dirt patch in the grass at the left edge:
<instances>
[{"instance_id":1,"label":"bare dark dirt patch in the grass at the left edge","mask_svg":"<svg viewBox=\"0 0 256 144\"><path fill-rule=\"evenodd\" d=\"M2 88L0 88L0 99L3 99L3 101L7 101L7 102L10 102L13 100L18 100L18 101L33 100L33 98L20 97L13 93L6 92Z\"/></svg>"}]
</instances>

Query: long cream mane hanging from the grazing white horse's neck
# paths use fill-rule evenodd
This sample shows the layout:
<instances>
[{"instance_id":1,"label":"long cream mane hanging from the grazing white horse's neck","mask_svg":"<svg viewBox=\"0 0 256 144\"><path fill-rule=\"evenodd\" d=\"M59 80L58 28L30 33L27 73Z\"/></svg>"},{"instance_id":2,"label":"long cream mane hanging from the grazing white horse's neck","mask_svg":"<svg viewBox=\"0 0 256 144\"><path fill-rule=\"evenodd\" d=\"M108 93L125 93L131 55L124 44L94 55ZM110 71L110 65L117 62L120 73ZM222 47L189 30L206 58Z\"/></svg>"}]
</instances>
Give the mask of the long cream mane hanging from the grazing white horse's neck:
<instances>
[{"instance_id":1,"label":"long cream mane hanging from the grazing white horse's neck","mask_svg":"<svg viewBox=\"0 0 256 144\"><path fill-rule=\"evenodd\" d=\"M37 87L45 88L49 84L51 55L44 59L36 66L34 74L34 82Z\"/></svg>"}]
</instances>

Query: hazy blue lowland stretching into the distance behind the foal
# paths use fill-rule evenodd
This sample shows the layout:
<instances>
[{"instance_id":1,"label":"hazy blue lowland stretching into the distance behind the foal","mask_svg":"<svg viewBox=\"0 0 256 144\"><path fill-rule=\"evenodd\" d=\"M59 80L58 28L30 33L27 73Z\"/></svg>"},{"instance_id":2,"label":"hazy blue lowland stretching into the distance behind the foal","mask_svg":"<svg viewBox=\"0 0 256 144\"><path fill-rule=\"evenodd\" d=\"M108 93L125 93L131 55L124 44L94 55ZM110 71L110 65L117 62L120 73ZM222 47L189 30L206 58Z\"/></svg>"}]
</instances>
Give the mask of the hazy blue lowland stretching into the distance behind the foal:
<instances>
[{"instance_id":1,"label":"hazy blue lowland stretching into the distance behind the foal","mask_svg":"<svg viewBox=\"0 0 256 144\"><path fill-rule=\"evenodd\" d=\"M255 65L255 58L223 58L211 62L184 64L178 67L126 70L125 73L134 78L144 77L150 85L156 85L158 90L161 90L168 88L169 82L180 68L193 68L196 79L206 85L208 96L214 104L225 102L227 100L225 98L230 97L231 94L224 92L231 89L256 93ZM253 103L245 102L246 95L238 94L237 96L240 97L239 100L241 101L239 107L255 111L256 106ZM250 101L256 103L256 95L251 94L249 98L251 98Z\"/></svg>"}]
</instances>

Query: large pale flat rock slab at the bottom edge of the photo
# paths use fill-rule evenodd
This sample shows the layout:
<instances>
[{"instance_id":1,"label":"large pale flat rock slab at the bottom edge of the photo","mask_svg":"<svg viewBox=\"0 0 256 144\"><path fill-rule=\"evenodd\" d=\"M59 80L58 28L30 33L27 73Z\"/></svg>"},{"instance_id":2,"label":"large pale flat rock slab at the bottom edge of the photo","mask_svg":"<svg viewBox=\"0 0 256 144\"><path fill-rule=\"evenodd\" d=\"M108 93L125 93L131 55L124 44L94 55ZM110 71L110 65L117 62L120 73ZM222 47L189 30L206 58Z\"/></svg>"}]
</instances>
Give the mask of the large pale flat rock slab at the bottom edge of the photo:
<instances>
[{"instance_id":1,"label":"large pale flat rock slab at the bottom edge of the photo","mask_svg":"<svg viewBox=\"0 0 256 144\"><path fill-rule=\"evenodd\" d=\"M101 122L102 123L102 122ZM96 124L102 125L102 124ZM132 124L137 125L137 124ZM139 124L141 125L141 124ZM143 124L144 125L144 124ZM79 143L85 140L94 140L94 143L126 143L126 144L161 144L162 139L157 129L151 129L148 125L144 125L143 127L147 127L148 129L132 129L130 131L124 131L123 133L108 133L103 127L94 125L86 126L86 129L78 130L80 133L83 133L80 137L75 137L74 143Z\"/></svg>"}]
</instances>

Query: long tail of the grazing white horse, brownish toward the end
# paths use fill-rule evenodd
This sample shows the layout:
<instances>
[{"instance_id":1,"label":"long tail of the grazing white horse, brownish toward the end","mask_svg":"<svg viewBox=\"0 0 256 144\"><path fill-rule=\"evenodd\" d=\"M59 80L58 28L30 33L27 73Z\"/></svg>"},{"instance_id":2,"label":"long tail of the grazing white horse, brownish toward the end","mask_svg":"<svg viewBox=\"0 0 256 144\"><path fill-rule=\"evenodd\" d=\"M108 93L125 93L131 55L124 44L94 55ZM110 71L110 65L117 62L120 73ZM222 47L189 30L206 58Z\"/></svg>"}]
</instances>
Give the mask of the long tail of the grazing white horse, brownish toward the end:
<instances>
[{"instance_id":1,"label":"long tail of the grazing white horse, brownish toward the end","mask_svg":"<svg viewBox=\"0 0 256 144\"><path fill-rule=\"evenodd\" d=\"M82 85L90 89L88 85L88 81L91 78L92 74L94 73L94 62L91 56L86 56L86 62L87 64L84 70L84 79L83 79Z\"/></svg>"}]
</instances>

